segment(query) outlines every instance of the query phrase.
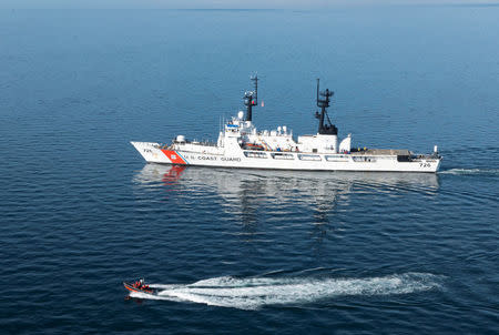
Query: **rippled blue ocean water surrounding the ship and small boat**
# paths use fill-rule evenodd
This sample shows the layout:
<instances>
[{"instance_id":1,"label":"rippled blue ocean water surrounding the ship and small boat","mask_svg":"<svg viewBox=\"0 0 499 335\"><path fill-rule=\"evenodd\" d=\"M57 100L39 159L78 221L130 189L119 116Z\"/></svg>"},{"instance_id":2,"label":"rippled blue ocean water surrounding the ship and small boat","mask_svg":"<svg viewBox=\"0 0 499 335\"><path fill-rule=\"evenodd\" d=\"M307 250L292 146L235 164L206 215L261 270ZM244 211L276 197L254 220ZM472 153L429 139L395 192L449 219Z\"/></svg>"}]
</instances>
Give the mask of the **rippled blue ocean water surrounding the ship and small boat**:
<instances>
[{"instance_id":1,"label":"rippled blue ocean water surrounding the ship and small boat","mask_svg":"<svg viewBox=\"0 0 499 335\"><path fill-rule=\"evenodd\" d=\"M0 12L6 333L495 334L499 7ZM438 174L145 164L261 128L312 133L315 79L354 145ZM128 298L139 276L162 290Z\"/></svg>"}]
</instances>

